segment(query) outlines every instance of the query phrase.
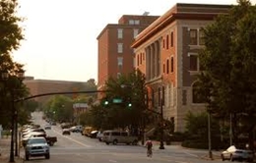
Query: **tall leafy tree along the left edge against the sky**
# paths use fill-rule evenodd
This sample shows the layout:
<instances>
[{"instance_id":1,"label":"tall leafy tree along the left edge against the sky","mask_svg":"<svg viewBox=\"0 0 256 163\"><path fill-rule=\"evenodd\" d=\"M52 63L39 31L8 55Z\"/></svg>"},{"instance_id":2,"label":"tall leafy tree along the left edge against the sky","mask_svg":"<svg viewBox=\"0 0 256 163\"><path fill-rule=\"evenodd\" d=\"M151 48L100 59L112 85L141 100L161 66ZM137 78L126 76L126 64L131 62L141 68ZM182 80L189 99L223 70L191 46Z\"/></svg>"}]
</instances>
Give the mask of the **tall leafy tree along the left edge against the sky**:
<instances>
[{"instance_id":1,"label":"tall leafy tree along the left edge against the sky","mask_svg":"<svg viewBox=\"0 0 256 163\"><path fill-rule=\"evenodd\" d=\"M19 26L23 19L16 16L17 6L15 0L0 1L0 124L4 127L10 127L8 122L11 122L12 113L9 104L12 102L13 86L20 90L16 93L17 98L27 94L24 84L20 84L17 78L18 73L23 71L23 65L14 62L10 55L20 47L20 41L24 39L23 28ZM3 73L8 73L9 78L3 79Z\"/></svg>"}]
</instances>

